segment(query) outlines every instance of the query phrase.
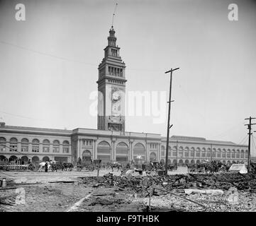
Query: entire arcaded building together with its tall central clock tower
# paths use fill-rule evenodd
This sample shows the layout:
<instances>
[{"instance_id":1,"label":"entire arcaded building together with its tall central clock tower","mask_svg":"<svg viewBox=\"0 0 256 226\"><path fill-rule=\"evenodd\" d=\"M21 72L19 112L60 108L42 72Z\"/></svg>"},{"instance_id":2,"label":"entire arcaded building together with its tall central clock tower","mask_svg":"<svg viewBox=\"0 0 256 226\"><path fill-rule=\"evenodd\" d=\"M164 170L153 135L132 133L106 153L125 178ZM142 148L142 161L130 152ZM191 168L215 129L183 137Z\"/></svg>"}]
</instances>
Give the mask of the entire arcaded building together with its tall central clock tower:
<instances>
[{"instance_id":1,"label":"entire arcaded building together with its tall central clock tower","mask_svg":"<svg viewBox=\"0 0 256 226\"><path fill-rule=\"evenodd\" d=\"M76 164L77 159L128 162L137 156L146 162L165 162L166 138L155 133L125 131L126 65L116 45L115 30L109 31L104 59L99 64L98 129L43 129L7 126L0 122L0 160L23 162L57 160ZM247 146L206 138L172 136L169 162L202 160L246 162Z\"/></svg>"}]
</instances>

